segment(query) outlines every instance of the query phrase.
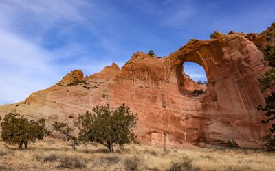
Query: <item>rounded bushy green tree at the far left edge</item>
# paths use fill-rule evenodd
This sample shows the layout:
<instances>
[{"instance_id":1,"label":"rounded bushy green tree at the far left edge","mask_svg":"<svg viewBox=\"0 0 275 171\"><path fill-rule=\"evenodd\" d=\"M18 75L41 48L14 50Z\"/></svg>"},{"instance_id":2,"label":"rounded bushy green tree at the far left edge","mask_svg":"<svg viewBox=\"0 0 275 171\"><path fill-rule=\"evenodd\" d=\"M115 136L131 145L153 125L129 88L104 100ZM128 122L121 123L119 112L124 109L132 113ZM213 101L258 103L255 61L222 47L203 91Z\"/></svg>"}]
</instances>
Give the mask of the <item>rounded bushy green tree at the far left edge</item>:
<instances>
[{"instance_id":1,"label":"rounded bushy green tree at the far left edge","mask_svg":"<svg viewBox=\"0 0 275 171\"><path fill-rule=\"evenodd\" d=\"M28 148L29 142L35 142L36 139L42 140L43 137L50 135L50 131L45 125L45 119L28 120L17 113L6 115L0 126L3 141L7 144L18 144L20 149L23 144L25 148Z\"/></svg>"}]
</instances>

